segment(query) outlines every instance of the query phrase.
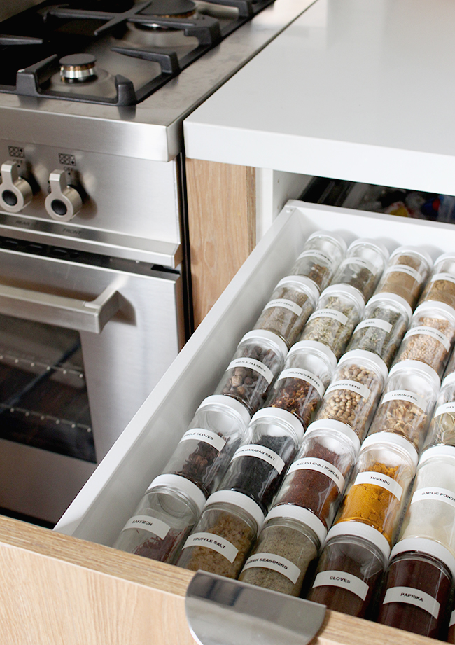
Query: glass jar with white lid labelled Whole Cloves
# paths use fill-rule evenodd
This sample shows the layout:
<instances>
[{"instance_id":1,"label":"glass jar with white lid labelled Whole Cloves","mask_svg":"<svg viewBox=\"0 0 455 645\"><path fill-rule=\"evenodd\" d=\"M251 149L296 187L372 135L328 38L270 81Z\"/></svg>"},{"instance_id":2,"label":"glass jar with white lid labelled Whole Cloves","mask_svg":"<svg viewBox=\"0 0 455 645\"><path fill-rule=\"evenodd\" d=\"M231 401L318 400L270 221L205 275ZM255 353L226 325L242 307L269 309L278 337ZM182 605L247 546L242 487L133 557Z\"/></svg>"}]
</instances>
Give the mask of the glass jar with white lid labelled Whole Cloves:
<instances>
[{"instance_id":1,"label":"glass jar with white lid labelled Whole Cloves","mask_svg":"<svg viewBox=\"0 0 455 645\"><path fill-rule=\"evenodd\" d=\"M239 448L250 420L245 406L231 396L204 398L163 473L186 477L209 497Z\"/></svg>"}]
</instances>

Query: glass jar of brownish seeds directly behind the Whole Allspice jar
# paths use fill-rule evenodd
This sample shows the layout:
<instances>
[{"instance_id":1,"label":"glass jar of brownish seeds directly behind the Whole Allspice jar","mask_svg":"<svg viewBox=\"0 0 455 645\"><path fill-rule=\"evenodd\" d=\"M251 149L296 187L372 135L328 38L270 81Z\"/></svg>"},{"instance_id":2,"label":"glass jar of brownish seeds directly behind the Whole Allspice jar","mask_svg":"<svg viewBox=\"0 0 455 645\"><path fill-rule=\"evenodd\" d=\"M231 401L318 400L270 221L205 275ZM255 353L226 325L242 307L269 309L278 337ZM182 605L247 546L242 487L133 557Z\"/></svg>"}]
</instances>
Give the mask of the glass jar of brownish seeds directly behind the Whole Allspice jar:
<instances>
[{"instance_id":1,"label":"glass jar of brownish seeds directly behind the Whole Allspice jar","mask_svg":"<svg viewBox=\"0 0 455 645\"><path fill-rule=\"evenodd\" d=\"M276 285L254 329L276 333L288 347L300 337L319 298L314 282L301 275L289 275Z\"/></svg>"}]
</instances>

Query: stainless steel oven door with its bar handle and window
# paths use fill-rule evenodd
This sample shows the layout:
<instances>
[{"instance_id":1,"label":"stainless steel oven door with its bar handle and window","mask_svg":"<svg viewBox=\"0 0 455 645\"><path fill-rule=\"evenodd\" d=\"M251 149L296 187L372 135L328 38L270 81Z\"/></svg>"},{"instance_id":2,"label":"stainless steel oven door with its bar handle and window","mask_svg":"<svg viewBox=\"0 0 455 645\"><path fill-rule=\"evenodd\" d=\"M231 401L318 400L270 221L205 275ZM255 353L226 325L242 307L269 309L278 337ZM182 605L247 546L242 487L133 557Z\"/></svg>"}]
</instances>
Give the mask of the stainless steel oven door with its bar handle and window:
<instances>
[{"instance_id":1,"label":"stainless steel oven door with its bar handle and window","mask_svg":"<svg viewBox=\"0 0 455 645\"><path fill-rule=\"evenodd\" d=\"M0 249L0 507L55 522L183 345L181 277L30 247Z\"/></svg>"}]
</instances>

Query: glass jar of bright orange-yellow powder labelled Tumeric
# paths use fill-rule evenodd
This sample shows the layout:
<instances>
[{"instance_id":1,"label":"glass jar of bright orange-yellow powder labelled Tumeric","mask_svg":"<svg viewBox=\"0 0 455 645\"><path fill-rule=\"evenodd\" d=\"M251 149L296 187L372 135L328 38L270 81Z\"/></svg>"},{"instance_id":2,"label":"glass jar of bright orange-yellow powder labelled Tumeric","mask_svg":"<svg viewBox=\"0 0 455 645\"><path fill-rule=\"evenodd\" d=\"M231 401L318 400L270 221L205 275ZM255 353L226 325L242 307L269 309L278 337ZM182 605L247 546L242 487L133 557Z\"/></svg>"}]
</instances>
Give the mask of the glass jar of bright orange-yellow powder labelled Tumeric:
<instances>
[{"instance_id":1,"label":"glass jar of bright orange-yellow powder labelled Tumeric","mask_svg":"<svg viewBox=\"0 0 455 645\"><path fill-rule=\"evenodd\" d=\"M363 522L392 544L417 459L414 446L402 436L390 432L368 436L337 522Z\"/></svg>"}]
</instances>

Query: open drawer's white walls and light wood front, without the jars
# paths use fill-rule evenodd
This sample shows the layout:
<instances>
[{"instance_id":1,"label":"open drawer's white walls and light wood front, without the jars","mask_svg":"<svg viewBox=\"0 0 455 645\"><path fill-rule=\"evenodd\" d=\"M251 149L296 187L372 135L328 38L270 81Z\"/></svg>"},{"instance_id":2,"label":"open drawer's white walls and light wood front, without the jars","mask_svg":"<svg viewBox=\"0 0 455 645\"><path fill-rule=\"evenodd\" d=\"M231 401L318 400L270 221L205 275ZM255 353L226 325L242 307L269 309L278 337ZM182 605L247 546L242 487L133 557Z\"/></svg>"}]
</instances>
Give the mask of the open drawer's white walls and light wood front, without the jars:
<instances>
[{"instance_id":1,"label":"open drawer's white walls and light wood front, without the jars","mask_svg":"<svg viewBox=\"0 0 455 645\"><path fill-rule=\"evenodd\" d=\"M55 531L1 518L2 644L194 644L185 596L195 574L110 545L162 471L200 401L213 393L276 282L288 274L309 233L318 229L344 231L348 242L380 237L391 249L423 244L433 258L455 249L451 225L288 202ZM311 642L397 641L436 642L330 611ZM255 643L253 633L250 642Z\"/></svg>"}]
</instances>

